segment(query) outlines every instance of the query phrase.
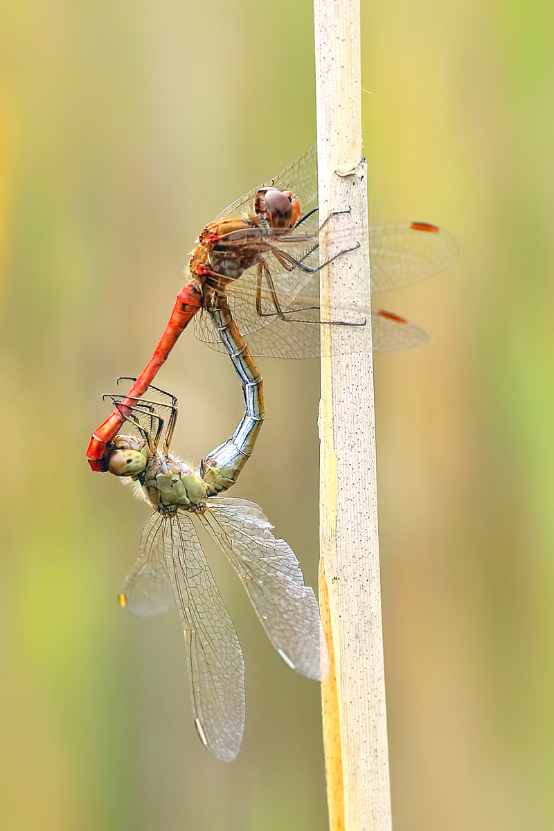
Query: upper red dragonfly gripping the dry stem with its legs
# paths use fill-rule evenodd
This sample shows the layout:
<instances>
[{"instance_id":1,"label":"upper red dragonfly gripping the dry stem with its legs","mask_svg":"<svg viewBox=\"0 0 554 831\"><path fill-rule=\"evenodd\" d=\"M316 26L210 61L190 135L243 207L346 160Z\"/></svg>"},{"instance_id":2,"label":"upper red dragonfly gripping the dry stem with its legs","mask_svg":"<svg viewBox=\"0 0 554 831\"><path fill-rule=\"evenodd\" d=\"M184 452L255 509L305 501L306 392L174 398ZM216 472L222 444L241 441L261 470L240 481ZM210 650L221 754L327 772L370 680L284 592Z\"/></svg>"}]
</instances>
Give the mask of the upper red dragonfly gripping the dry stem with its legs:
<instances>
[{"instance_id":1,"label":"upper red dragonfly gripping the dry stem with its legs","mask_svg":"<svg viewBox=\"0 0 554 831\"><path fill-rule=\"evenodd\" d=\"M304 213L301 213L301 209ZM332 215L331 215L332 216ZM319 262L316 146L307 150L269 185L252 189L228 205L203 229L189 263L189 283L177 295L153 356L131 387L129 401L98 427L86 455L92 470L106 470L110 440L124 420L125 406L142 396L184 327L208 346L224 350L208 314L215 298L229 307L252 355L305 358L319 354ZM336 256L359 246L346 242ZM457 256L453 238L424 222L370 228L370 282L373 291L414 283L445 268ZM329 261L327 261L329 262ZM344 310L341 324L360 325L360 310ZM379 309L371 311L376 351L421 346L429 341L419 327Z\"/></svg>"}]
</instances>

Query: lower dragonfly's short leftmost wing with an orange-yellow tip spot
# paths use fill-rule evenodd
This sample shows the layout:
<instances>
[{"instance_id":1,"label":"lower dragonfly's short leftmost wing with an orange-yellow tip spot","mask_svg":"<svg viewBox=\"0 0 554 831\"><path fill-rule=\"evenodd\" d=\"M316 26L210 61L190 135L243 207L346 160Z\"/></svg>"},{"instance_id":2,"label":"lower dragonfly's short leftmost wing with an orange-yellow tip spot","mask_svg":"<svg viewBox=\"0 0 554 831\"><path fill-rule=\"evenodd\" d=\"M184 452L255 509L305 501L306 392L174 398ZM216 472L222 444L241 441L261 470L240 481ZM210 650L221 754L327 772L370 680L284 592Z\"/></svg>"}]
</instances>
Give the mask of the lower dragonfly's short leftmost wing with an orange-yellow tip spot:
<instances>
[{"instance_id":1,"label":"lower dragonfly's short leftmost wing with an orange-yellow tip spot","mask_svg":"<svg viewBox=\"0 0 554 831\"><path fill-rule=\"evenodd\" d=\"M151 514L140 540L140 555L121 587L120 605L135 615L149 617L174 605L165 567L162 517Z\"/></svg>"}]
</instances>

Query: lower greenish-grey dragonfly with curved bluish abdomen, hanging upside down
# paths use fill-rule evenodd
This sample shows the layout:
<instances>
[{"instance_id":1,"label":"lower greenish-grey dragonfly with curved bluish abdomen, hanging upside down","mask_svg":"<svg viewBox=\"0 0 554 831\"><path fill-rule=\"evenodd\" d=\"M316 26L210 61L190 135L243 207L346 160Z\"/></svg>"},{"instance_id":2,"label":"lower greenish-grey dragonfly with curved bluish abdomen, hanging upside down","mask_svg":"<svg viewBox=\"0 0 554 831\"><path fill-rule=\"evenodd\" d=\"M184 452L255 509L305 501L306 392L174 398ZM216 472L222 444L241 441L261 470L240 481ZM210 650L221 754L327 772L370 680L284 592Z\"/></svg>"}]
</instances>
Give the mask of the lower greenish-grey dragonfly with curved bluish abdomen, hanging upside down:
<instances>
[{"instance_id":1,"label":"lower greenish-grey dragonfly with curved bluish abdomen, hanging upside down","mask_svg":"<svg viewBox=\"0 0 554 831\"><path fill-rule=\"evenodd\" d=\"M219 323L240 346L229 317ZM292 548L273 536L257 504L219 495L236 481L263 420L262 379L248 349L235 350L237 355L245 414L232 438L212 450L199 470L169 452L178 413L174 396L154 386L150 390L161 401L107 396L137 434L117 435L110 442L108 470L134 483L153 509L139 558L120 590L120 606L141 616L177 607L194 725L202 744L223 761L236 757L243 738L244 661L195 523L203 526L238 574L287 666L316 681L325 678L329 666L316 597L304 584Z\"/></svg>"}]
</instances>

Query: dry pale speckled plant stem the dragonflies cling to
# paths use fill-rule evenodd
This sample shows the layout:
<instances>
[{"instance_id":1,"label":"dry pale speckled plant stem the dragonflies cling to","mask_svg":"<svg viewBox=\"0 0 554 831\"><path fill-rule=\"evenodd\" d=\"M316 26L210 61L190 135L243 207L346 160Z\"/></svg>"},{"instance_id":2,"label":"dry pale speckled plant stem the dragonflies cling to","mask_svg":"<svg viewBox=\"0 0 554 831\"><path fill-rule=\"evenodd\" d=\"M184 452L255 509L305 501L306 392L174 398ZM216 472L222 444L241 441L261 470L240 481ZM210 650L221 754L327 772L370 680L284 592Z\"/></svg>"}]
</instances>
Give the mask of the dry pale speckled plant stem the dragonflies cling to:
<instances>
[{"instance_id":1,"label":"dry pale speckled plant stem the dragonflies cling to","mask_svg":"<svg viewBox=\"0 0 554 831\"><path fill-rule=\"evenodd\" d=\"M331 225L360 242L321 274L321 315L341 320L341 306L370 307L359 2L315 0L315 24L320 216L350 209ZM336 253L325 234L321 249L324 258ZM391 829L370 317L366 323L321 327L320 574L335 658L323 687L331 831Z\"/></svg>"}]
</instances>

